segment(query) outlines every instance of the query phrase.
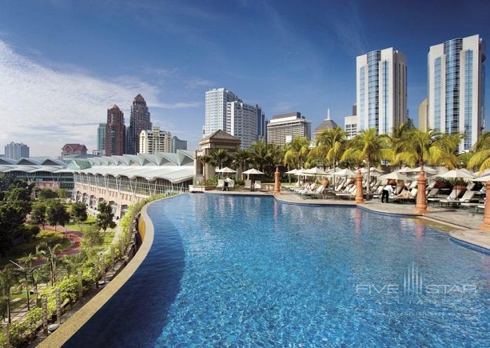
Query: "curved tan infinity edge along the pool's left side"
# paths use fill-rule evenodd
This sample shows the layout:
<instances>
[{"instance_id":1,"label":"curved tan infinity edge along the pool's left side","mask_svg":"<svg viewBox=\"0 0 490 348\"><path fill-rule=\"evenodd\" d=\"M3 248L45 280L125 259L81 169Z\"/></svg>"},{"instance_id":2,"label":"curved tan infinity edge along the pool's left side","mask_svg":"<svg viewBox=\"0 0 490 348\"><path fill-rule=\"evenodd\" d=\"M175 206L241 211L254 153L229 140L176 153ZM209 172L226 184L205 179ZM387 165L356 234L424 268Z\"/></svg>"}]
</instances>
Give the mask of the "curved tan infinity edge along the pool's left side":
<instances>
[{"instance_id":1,"label":"curved tan infinity edge along the pool's left side","mask_svg":"<svg viewBox=\"0 0 490 348\"><path fill-rule=\"evenodd\" d=\"M172 198L172 197L167 197ZM143 263L150 248L153 245L154 239L154 226L150 215L147 213L147 208L152 203L156 203L163 199L158 199L157 201L152 201L145 204L141 209L140 217L145 221L145 239L141 243L140 248L135 253L134 257L128 262L126 267L124 267L117 276L112 279L107 286L100 290L94 297L86 302L77 312L62 323L58 330L55 330L51 335L48 335L46 339L40 342L37 347L39 348L54 348L62 347L63 344L68 342L68 340L74 336L82 326L84 326L102 307L106 304L112 296L114 296L124 284L133 276L138 267Z\"/></svg>"}]
</instances>

